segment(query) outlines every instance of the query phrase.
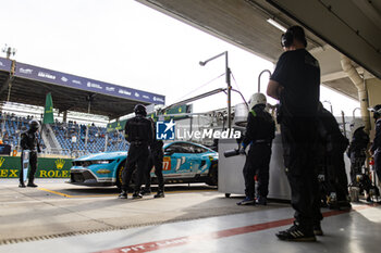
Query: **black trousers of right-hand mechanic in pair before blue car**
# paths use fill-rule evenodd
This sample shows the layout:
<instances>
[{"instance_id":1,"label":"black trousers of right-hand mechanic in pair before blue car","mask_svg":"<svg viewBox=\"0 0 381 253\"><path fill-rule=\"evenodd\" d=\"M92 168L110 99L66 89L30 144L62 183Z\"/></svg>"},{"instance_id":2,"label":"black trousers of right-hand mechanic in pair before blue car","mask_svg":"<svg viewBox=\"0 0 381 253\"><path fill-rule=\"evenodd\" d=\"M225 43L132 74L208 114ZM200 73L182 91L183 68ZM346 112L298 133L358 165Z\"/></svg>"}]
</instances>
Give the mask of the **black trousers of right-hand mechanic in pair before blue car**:
<instances>
[{"instance_id":1,"label":"black trousers of right-hand mechanic in pair before blue car","mask_svg":"<svg viewBox=\"0 0 381 253\"><path fill-rule=\"evenodd\" d=\"M164 191L164 178L162 176L162 160L164 155L162 151L152 151L149 155L148 166L145 172L145 186L147 189L151 187L151 168L155 166L155 175L158 179L159 189L158 191Z\"/></svg>"}]
</instances>

